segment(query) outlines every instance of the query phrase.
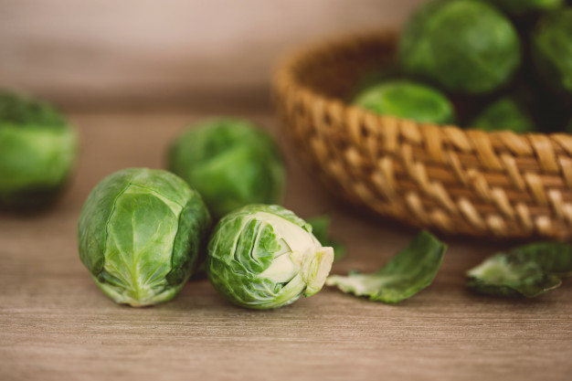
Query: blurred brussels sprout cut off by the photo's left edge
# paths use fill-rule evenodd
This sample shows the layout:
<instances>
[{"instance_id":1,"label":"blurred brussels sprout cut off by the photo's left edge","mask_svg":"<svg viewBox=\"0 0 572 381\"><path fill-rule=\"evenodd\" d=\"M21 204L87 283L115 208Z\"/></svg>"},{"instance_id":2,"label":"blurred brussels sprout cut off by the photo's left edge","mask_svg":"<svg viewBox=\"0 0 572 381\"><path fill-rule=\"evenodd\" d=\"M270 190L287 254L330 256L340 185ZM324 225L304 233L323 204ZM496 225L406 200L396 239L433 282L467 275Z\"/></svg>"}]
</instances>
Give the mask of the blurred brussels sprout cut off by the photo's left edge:
<instances>
[{"instance_id":1,"label":"blurred brussels sprout cut off by the photo's left edge","mask_svg":"<svg viewBox=\"0 0 572 381\"><path fill-rule=\"evenodd\" d=\"M0 207L47 206L68 179L77 151L77 134L59 111L0 91Z\"/></svg>"}]
</instances>

